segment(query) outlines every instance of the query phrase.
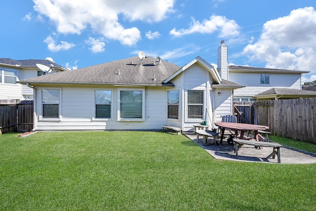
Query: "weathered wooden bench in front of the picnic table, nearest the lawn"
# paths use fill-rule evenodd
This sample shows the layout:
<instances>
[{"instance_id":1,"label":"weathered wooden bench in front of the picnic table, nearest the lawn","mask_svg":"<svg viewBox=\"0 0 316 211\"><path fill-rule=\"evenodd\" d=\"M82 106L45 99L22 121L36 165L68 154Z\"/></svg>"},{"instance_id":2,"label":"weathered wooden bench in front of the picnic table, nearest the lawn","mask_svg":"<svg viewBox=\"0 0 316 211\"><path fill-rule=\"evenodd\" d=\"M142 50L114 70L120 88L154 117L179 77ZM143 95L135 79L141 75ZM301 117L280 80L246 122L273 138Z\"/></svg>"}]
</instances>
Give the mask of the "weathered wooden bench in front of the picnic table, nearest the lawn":
<instances>
[{"instance_id":1,"label":"weathered wooden bench in front of the picnic table, nearest the lawn","mask_svg":"<svg viewBox=\"0 0 316 211\"><path fill-rule=\"evenodd\" d=\"M267 157L267 159L271 157L274 159L277 156L277 163L281 162L280 147L283 147L281 144L274 143L274 142L264 142L264 141L250 141L250 140L237 139L237 138L233 138L233 141L234 141L234 153L236 153L236 156L238 156L238 150L244 144L253 145L255 147L273 147L273 152Z\"/></svg>"}]
</instances>

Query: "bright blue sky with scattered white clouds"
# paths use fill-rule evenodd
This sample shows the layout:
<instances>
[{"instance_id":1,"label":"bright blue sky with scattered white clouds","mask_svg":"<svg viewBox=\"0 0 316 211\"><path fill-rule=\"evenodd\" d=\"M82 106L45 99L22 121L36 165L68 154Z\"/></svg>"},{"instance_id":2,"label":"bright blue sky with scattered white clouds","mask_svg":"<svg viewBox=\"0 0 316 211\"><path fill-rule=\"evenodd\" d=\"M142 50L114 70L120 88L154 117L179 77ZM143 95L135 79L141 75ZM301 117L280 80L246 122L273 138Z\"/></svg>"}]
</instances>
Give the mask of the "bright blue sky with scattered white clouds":
<instances>
[{"instance_id":1,"label":"bright blue sky with scattered white clouds","mask_svg":"<svg viewBox=\"0 0 316 211\"><path fill-rule=\"evenodd\" d=\"M50 58L77 69L136 56L183 66L197 56L310 71L316 80L316 0L6 0L0 58Z\"/></svg>"}]
</instances>

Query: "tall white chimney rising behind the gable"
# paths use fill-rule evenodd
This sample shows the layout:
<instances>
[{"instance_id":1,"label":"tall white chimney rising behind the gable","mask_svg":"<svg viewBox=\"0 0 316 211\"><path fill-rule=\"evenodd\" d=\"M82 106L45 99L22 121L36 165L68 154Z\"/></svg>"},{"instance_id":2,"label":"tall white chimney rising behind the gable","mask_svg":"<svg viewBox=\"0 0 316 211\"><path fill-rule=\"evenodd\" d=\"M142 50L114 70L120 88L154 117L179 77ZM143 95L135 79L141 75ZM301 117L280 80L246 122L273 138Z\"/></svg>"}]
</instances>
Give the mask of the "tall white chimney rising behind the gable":
<instances>
[{"instance_id":1,"label":"tall white chimney rising behind the gable","mask_svg":"<svg viewBox=\"0 0 316 211\"><path fill-rule=\"evenodd\" d=\"M217 69L222 79L228 80L228 46L225 41L217 48Z\"/></svg>"}]
</instances>

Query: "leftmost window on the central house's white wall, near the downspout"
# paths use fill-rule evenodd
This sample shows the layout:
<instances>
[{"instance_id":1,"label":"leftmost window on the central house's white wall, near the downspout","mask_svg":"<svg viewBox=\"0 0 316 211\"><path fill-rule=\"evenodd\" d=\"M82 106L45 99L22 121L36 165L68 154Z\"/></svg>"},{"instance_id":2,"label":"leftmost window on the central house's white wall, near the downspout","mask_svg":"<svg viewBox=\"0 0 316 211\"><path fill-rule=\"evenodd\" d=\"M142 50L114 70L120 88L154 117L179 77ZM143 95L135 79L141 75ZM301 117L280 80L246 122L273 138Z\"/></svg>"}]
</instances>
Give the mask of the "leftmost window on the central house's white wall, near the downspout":
<instances>
[{"instance_id":1,"label":"leftmost window on the central house's white wall, near the downspout","mask_svg":"<svg viewBox=\"0 0 316 211\"><path fill-rule=\"evenodd\" d=\"M59 118L60 89L42 89L42 118Z\"/></svg>"}]
</instances>

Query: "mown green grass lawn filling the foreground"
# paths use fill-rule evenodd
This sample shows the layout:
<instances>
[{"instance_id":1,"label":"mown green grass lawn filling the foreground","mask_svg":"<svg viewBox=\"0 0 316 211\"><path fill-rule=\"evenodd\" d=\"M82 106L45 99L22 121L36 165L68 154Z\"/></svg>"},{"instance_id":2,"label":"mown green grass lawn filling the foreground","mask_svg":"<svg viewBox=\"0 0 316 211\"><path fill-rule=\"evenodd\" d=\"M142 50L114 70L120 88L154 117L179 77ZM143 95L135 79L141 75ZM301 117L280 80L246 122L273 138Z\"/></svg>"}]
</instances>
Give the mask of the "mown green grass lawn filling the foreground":
<instances>
[{"instance_id":1,"label":"mown green grass lawn filling the foreground","mask_svg":"<svg viewBox=\"0 0 316 211\"><path fill-rule=\"evenodd\" d=\"M0 135L1 211L315 211L315 173L214 160L175 133Z\"/></svg>"}]
</instances>

